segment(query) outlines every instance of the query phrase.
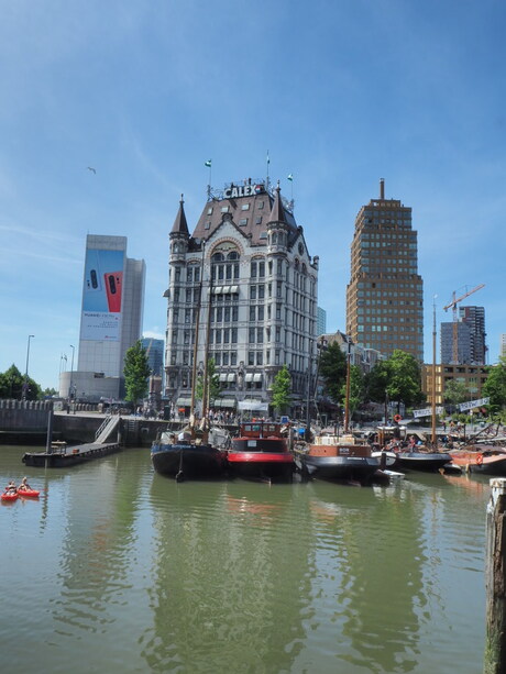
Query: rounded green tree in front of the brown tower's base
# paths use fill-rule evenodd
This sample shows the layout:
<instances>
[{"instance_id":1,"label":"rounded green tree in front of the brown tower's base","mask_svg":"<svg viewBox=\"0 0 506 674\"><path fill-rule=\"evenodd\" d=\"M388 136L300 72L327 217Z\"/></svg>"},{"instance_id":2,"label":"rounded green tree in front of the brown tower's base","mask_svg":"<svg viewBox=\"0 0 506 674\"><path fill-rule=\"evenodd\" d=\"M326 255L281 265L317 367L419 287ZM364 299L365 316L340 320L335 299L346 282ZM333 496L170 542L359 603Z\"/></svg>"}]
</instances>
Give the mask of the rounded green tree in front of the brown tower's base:
<instances>
[{"instance_id":1,"label":"rounded green tree in front of the brown tower's base","mask_svg":"<svg viewBox=\"0 0 506 674\"><path fill-rule=\"evenodd\" d=\"M396 349L386 361L380 361L367 377L367 396L375 402L389 400L404 402L406 407L424 402L421 371L410 353Z\"/></svg>"}]
</instances>

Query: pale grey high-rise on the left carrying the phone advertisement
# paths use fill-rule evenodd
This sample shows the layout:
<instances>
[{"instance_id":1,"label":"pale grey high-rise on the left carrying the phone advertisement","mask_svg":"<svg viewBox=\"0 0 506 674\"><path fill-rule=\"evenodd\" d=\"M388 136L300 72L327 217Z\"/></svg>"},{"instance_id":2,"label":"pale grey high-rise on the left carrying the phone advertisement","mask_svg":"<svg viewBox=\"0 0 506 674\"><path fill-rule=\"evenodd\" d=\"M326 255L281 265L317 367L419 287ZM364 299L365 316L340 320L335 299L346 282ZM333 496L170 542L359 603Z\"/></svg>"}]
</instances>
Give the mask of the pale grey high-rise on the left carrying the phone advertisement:
<instances>
[{"instance_id":1,"label":"pale grey high-rise on the left carrying the phone advertisement","mask_svg":"<svg viewBox=\"0 0 506 674\"><path fill-rule=\"evenodd\" d=\"M124 355L142 333L144 278L144 261L127 257L125 236L87 236L77 367L62 373L61 396L122 395Z\"/></svg>"}]
</instances>

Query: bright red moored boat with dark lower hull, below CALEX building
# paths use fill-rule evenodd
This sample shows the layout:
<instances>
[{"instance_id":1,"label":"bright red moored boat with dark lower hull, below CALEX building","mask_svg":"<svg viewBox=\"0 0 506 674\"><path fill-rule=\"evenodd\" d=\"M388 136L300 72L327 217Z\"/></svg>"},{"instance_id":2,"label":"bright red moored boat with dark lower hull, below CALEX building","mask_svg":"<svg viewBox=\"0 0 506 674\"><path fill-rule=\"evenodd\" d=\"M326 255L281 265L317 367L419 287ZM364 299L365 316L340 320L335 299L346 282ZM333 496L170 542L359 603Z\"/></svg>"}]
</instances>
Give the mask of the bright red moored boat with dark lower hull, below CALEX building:
<instances>
[{"instance_id":1,"label":"bright red moored boat with dark lower hull, below CALEX building","mask_svg":"<svg viewBox=\"0 0 506 674\"><path fill-rule=\"evenodd\" d=\"M241 423L239 438L232 438L227 453L232 476L261 480L290 480L294 455L286 438L287 429L271 421Z\"/></svg>"}]
</instances>

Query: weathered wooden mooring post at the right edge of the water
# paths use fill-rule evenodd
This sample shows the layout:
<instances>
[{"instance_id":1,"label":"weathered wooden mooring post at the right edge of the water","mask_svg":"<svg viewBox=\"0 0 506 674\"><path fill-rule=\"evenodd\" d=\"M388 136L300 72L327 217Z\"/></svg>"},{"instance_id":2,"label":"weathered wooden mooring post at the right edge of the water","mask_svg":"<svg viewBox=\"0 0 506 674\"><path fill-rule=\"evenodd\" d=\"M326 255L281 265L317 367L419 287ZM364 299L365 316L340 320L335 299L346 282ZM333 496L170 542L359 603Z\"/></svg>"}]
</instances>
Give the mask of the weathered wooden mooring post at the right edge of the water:
<instances>
[{"instance_id":1,"label":"weathered wooden mooring post at the right edge of the water","mask_svg":"<svg viewBox=\"0 0 506 674\"><path fill-rule=\"evenodd\" d=\"M486 508L484 674L506 672L506 478L491 479Z\"/></svg>"}]
</instances>

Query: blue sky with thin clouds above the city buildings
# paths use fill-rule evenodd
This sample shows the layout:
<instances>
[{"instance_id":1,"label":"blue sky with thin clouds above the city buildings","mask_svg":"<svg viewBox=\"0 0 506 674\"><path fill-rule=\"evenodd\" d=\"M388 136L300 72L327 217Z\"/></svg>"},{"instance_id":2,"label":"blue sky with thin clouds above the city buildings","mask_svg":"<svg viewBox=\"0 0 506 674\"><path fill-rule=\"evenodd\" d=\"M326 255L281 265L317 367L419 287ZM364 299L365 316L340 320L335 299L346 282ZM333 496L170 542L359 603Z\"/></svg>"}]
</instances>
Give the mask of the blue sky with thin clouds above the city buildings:
<instances>
[{"instance_id":1,"label":"blue sky with thin clouds above the city buildings","mask_svg":"<svg viewBox=\"0 0 506 674\"><path fill-rule=\"evenodd\" d=\"M168 233L212 186L279 179L327 331L345 330L350 244L380 195L413 208L432 321L485 307L506 332L506 5L501 0L0 0L0 372L58 386L79 342L86 235L146 263L163 338ZM88 169L95 168L96 173ZM287 176L293 174L294 181ZM292 194L293 190L293 194Z\"/></svg>"}]
</instances>

